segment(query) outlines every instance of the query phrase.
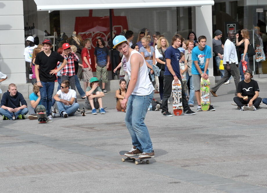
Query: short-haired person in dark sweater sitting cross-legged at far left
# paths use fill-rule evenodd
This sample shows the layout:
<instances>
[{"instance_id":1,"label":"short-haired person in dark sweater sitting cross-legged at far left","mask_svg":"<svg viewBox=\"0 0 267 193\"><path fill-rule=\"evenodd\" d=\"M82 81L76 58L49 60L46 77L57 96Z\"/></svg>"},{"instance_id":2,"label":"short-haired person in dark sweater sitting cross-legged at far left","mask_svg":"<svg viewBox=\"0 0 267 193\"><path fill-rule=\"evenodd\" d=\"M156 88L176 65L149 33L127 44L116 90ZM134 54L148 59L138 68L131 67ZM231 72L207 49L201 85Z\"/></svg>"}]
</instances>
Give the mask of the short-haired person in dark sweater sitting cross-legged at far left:
<instances>
[{"instance_id":1,"label":"short-haired person in dark sweater sitting cross-legged at far left","mask_svg":"<svg viewBox=\"0 0 267 193\"><path fill-rule=\"evenodd\" d=\"M12 120L14 115L15 119L25 119L28 113L27 102L22 94L17 92L17 86L13 83L8 85L8 91L3 94L0 107L3 120Z\"/></svg>"}]
</instances>

